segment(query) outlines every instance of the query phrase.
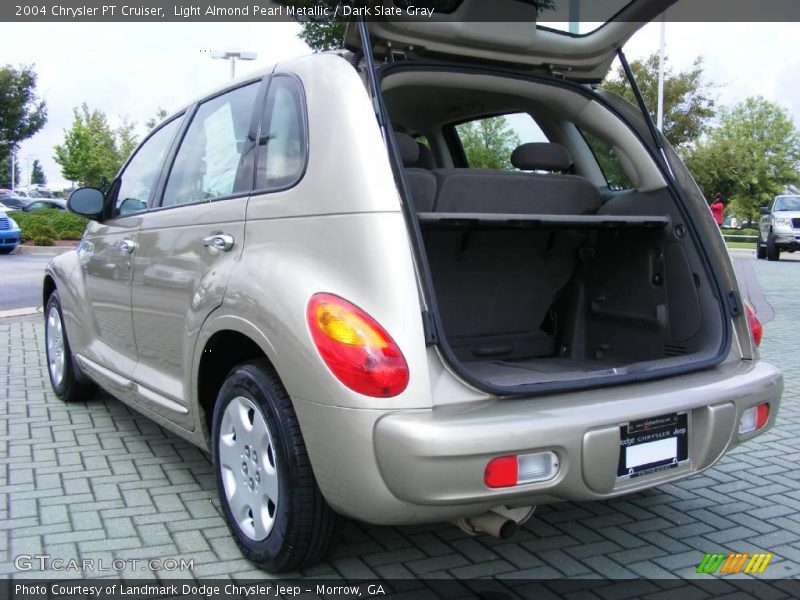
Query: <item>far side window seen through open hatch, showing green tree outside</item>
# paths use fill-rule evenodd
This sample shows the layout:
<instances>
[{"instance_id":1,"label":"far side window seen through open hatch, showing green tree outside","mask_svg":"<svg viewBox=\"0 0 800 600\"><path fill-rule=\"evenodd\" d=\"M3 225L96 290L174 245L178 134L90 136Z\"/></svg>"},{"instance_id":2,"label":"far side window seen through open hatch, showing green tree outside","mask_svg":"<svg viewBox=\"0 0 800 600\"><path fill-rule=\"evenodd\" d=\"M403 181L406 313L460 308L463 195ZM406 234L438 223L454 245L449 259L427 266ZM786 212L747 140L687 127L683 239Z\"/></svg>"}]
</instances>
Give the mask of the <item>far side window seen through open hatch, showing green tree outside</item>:
<instances>
[{"instance_id":1,"label":"far side window seen through open hatch, showing green tree outside","mask_svg":"<svg viewBox=\"0 0 800 600\"><path fill-rule=\"evenodd\" d=\"M539 125L527 113L475 119L455 126L471 169L511 171L511 153L520 144L546 142Z\"/></svg>"}]
</instances>

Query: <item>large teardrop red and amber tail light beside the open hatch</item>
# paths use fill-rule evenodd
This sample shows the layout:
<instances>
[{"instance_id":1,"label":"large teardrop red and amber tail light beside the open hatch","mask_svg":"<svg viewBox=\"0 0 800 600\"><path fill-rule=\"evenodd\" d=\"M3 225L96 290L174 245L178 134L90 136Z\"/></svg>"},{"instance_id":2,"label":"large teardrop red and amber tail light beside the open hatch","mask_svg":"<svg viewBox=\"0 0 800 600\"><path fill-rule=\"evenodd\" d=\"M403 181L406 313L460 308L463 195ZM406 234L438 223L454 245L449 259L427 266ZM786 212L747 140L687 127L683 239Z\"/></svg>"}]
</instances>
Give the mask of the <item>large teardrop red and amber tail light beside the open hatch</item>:
<instances>
[{"instance_id":1,"label":"large teardrop red and amber tail light beside the open hatch","mask_svg":"<svg viewBox=\"0 0 800 600\"><path fill-rule=\"evenodd\" d=\"M406 389L403 353L363 310L339 296L315 294L306 317L322 360L348 388L374 398L391 398Z\"/></svg>"}]
</instances>

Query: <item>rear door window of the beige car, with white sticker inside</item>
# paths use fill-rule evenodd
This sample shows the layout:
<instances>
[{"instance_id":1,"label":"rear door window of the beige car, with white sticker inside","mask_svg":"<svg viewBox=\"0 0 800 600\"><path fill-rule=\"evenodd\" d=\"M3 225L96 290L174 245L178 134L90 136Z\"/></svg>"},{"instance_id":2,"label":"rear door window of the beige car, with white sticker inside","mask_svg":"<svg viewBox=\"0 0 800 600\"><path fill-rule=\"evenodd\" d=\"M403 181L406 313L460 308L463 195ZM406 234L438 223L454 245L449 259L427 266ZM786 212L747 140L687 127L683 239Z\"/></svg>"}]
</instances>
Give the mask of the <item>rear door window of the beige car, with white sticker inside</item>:
<instances>
[{"instance_id":1,"label":"rear door window of the beige car, with white sticker inside","mask_svg":"<svg viewBox=\"0 0 800 600\"><path fill-rule=\"evenodd\" d=\"M203 102L181 142L161 206L213 200L250 190L237 177L247 152L259 82Z\"/></svg>"}]
</instances>

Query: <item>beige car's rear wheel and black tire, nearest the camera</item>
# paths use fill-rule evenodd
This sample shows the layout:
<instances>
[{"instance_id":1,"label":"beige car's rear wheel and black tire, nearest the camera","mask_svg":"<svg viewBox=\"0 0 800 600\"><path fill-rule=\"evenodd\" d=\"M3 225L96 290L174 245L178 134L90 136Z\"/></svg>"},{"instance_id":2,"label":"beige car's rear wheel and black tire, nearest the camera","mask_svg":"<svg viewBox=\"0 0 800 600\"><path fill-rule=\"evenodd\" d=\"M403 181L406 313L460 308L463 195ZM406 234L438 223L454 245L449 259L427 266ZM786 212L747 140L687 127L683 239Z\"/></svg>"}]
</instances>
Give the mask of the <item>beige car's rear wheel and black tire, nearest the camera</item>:
<instances>
[{"instance_id":1,"label":"beige car's rear wheel and black tire, nearest the camera","mask_svg":"<svg viewBox=\"0 0 800 600\"><path fill-rule=\"evenodd\" d=\"M292 401L266 361L228 374L212 431L217 490L242 554L271 573L322 560L338 516L314 478Z\"/></svg>"}]
</instances>

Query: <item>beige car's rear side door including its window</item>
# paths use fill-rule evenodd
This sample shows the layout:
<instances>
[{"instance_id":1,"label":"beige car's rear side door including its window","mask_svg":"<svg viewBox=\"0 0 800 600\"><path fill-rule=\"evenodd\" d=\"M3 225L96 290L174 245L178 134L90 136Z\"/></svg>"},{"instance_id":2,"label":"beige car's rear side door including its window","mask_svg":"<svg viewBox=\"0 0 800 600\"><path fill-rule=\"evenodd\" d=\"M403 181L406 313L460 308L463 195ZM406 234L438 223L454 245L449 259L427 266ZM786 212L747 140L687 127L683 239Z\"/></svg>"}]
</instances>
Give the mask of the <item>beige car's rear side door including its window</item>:
<instances>
[{"instance_id":1,"label":"beige car's rear side door including its window","mask_svg":"<svg viewBox=\"0 0 800 600\"><path fill-rule=\"evenodd\" d=\"M138 401L185 427L194 341L222 303L242 251L265 82L199 103L154 210L141 217L134 261Z\"/></svg>"}]
</instances>

